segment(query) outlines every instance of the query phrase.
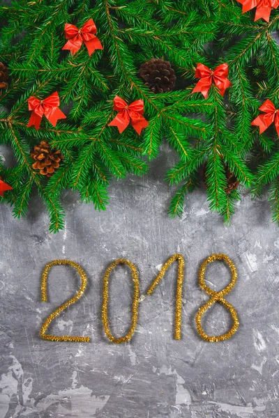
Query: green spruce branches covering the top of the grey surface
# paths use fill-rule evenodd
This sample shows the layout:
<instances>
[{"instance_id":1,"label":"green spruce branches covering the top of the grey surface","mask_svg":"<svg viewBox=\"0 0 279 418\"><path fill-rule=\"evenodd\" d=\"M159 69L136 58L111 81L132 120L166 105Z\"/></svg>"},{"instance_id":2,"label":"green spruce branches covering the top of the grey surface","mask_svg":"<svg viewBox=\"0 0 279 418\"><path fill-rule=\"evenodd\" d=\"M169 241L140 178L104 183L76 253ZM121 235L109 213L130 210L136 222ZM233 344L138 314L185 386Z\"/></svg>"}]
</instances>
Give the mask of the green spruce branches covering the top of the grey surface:
<instances>
[{"instance_id":1,"label":"green spruce branches covering the top of the grey surface","mask_svg":"<svg viewBox=\"0 0 279 418\"><path fill-rule=\"evenodd\" d=\"M259 194L271 184L274 219L279 223L279 148L275 128L259 135L250 123L269 98L279 107L279 47L273 33L279 9L270 22L254 22L255 11L241 14L236 0L17 0L0 6L0 61L8 65L10 82L0 97L0 144L9 144L15 167L0 162L0 176L13 186L3 201L15 217L27 212L36 187L50 213L50 231L63 229L60 203L63 189L80 192L82 201L104 210L110 179L127 173L143 175L156 158L162 140L176 150L178 162L167 173L179 185L169 214L181 215L186 194L199 184L206 163L209 206L229 221L234 190L227 194L224 164L244 187ZM92 18L103 50L89 56L82 45L71 56L64 24L81 27ZM138 77L140 65L151 58L170 61L176 88L152 93ZM227 62L228 88L222 98L212 85L209 98L194 93L197 63L209 68ZM59 92L67 118L53 127L45 118L38 132L27 128L31 95L46 98ZM130 103L144 100L149 126L139 137L129 126L122 134L107 126L116 112L115 95ZM68 105L66 109L65 106ZM63 153L52 178L31 167L30 150L46 140ZM253 173L251 161L259 168Z\"/></svg>"}]
</instances>

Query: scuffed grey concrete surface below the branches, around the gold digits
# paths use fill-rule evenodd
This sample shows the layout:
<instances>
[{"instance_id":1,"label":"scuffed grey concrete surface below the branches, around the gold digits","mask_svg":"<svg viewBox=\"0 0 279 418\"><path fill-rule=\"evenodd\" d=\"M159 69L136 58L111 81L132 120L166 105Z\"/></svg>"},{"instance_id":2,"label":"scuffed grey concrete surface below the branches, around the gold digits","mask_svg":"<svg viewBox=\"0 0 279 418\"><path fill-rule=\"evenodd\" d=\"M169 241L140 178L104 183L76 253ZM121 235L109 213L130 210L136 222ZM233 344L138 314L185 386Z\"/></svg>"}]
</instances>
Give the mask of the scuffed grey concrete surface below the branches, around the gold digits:
<instances>
[{"instance_id":1,"label":"scuffed grey concrete surface below the branches, around the gold digits","mask_svg":"<svg viewBox=\"0 0 279 418\"><path fill-rule=\"evenodd\" d=\"M167 217L173 189L164 182L174 155L168 148L144 178L111 187L106 212L63 197L66 229L50 235L48 217L34 197L25 219L1 206L0 417L1 418L278 418L279 229L271 223L266 198L243 196L233 223L209 212L204 189L190 195L181 219ZM180 252L186 258L181 341L173 339L176 266L151 296L144 296L160 266ZM197 283L200 263L212 252L236 263L239 281L227 296L241 325L232 339L207 343L195 330L195 313L208 299ZM103 273L115 258L140 270L137 330L130 343L114 345L101 323ZM55 267L48 303L40 302L45 263L70 258L88 274L86 294L55 320L52 332L91 336L91 343L53 343L38 334L42 321L79 287L79 277ZM130 321L130 272L111 276L112 330ZM229 271L216 262L209 286L221 289ZM211 309L210 332L230 325L227 311Z\"/></svg>"}]
</instances>

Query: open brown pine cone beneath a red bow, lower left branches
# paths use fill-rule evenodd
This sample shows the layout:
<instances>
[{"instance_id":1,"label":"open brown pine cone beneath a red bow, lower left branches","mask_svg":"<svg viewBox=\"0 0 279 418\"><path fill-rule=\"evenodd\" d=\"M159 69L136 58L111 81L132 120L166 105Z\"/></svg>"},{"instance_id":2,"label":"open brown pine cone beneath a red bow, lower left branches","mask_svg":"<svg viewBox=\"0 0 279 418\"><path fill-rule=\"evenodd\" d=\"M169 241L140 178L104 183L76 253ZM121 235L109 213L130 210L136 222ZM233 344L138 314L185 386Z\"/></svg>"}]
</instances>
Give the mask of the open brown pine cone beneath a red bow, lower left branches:
<instances>
[{"instance_id":1,"label":"open brown pine cone beneath a red bow, lower left branches","mask_svg":"<svg viewBox=\"0 0 279 418\"><path fill-rule=\"evenodd\" d=\"M40 141L40 144L34 146L30 156L35 162L32 164L34 170L40 170L43 176L51 177L56 169L59 168L59 162L63 159L60 150L52 150L46 141Z\"/></svg>"}]
</instances>

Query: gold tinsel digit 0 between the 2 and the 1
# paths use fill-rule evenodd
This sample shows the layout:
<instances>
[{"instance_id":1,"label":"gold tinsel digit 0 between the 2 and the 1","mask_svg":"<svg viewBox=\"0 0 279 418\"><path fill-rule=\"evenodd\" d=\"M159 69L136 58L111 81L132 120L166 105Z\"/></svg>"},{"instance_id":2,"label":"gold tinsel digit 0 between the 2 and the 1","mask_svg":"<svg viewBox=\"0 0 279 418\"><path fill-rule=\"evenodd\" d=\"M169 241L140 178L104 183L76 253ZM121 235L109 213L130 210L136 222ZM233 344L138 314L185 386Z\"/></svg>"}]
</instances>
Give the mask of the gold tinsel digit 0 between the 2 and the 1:
<instances>
[{"instance_id":1,"label":"gold tinsel digit 0 between the 2 and the 1","mask_svg":"<svg viewBox=\"0 0 279 418\"><path fill-rule=\"evenodd\" d=\"M132 325L130 327L130 331L128 332L128 334L126 334L126 336L121 336L119 338L116 338L110 332L110 325L109 325L109 320L107 317L107 310L108 310L108 303L109 303L110 272L116 267L116 265L119 265L119 264L126 264L130 267L130 270L133 276L134 296L133 296L133 304L132 304ZM116 344L126 343L132 338L135 332L135 328L137 326L137 307L139 304L139 298L140 298L140 280L137 274L137 269L135 268L135 265L131 263L130 261L126 260L125 258L119 258L118 260L114 261L110 265L109 268L107 268L107 271L105 272L105 276L104 276L104 287L103 287L102 321L103 321L105 334L107 338L113 343L116 343Z\"/></svg>"}]
</instances>

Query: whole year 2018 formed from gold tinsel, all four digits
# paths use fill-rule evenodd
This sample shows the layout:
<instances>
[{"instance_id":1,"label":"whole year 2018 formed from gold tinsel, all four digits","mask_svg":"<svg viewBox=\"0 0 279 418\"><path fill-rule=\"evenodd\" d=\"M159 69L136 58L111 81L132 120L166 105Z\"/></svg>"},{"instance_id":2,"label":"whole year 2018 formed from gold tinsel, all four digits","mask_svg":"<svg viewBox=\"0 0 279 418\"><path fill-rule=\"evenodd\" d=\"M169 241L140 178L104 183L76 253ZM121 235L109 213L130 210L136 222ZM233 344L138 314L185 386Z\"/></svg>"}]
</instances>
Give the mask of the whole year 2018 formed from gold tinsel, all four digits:
<instances>
[{"instance_id":1,"label":"whole year 2018 formed from gold tinsel, all four digits","mask_svg":"<svg viewBox=\"0 0 279 418\"><path fill-rule=\"evenodd\" d=\"M206 266L209 263L212 263L213 261L216 261L216 260L225 261L225 263L227 263L232 273L231 282L225 288L223 288L222 291L219 291L219 292L213 291L213 289L206 286L205 281L204 281ZM175 261L178 261L178 270L177 270L177 279L176 279L176 310L175 310L176 314L175 314L175 324L174 324L174 339L179 340L181 339L181 311L182 311L182 293L183 293L184 264L185 264L184 258L183 256L181 256L181 254L174 254L172 257L170 257L167 260L167 262L161 268L156 279L154 279L151 286L149 286L149 289L147 290L147 295L151 295L153 293L153 291L156 289L156 286L158 286L160 281L163 279L165 272L167 271L169 266L172 265L172 263L174 263ZM116 268L116 266L119 264L126 264L130 268L132 272L132 278L133 278L134 293L133 293L132 320L131 320L130 330L125 336L121 336L117 338L114 335L112 335L112 332L110 331L110 324L108 320L107 311L108 311L108 303L109 303L109 297L110 297L110 293L109 293L110 272L112 272L112 270L114 270L114 268ZM74 297L70 298L69 300L61 304L58 308L55 309L55 311L52 312L52 314L50 314L46 318L45 322L43 323L40 329L40 336L43 339L48 340L48 341L71 341L71 342L79 342L79 343L88 343L90 341L89 336L69 336L69 335L58 336L58 335L47 334L47 329L50 326L50 323L52 323L52 321L54 320L54 318L56 318L56 316L59 316L59 314L61 314L62 311L64 311L71 304L74 304L75 302L77 302L77 300L79 300L80 297L82 297L86 289L86 283L87 283L86 274L79 264L71 260L51 261L50 263L47 263L47 265L45 266L45 269L43 270L42 284L41 284L43 302L47 302L47 277L50 272L50 269L54 265L70 265L71 267L75 268L75 270L77 270L77 272L80 274L81 286L80 286L79 291L77 291L77 294ZM197 332L205 341L209 341L209 342L225 341L226 339L229 339L239 327L239 318L237 316L236 310L234 309L232 304L229 304L229 302L225 300L225 295L227 295L227 293L232 291L232 288L236 284L236 279L237 279L237 272L236 272L235 265L232 262L232 260L225 254L222 254L222 253L211 254L211 256L206 258L206 260L202 263L199 269L199 286L201 286L201 288L206 293L208 293L211 296L211 298L209 299L208 302L206 302L206 304L202 305L202 307L199 308L199 310L197 311L195 320L196 320L196 325L197 325ZM137 313L138 313L139 300L140 300L140 279L139 279L139 274L137 273L137 268L131 261L128 261L125 258L119 258L118 260L114 261L110 265L109 268L107 268L105 272L105 276L104 276L104 281L103 281L102 321L103 321L105 335L113 343L116 343L116 344L125 343L132 338L135 332L135 329L137 327ZM232 315L232 319L233 319L233 325L232 325L232 328L225 334L210 336L210 335L207 335L202 328L202 316L215 302L219 302L220 304L223 305L223 307L225 307L230 312L230 314Z\"/></svg>"}]
</instances>

